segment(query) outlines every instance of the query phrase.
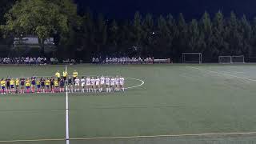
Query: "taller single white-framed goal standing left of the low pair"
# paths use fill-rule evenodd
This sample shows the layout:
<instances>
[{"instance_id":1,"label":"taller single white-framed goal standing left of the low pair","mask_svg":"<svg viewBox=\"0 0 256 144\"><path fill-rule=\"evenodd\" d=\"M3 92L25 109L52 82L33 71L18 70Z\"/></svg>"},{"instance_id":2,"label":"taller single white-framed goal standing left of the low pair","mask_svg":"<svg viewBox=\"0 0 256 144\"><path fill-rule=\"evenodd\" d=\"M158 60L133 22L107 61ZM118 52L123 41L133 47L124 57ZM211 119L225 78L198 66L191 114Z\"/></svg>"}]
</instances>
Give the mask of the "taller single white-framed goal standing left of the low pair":
<instances>
[{"instance_id":1,"label":"taller single white-framed goal standing left of the low pair","mask_svg":"<svg viewBox=\"0 0 256 144\"><path fill-rule=\"evenodd\" d=\"M182 53L183 63L202 63L202 53Z\"/></svg>"}]
</instances>

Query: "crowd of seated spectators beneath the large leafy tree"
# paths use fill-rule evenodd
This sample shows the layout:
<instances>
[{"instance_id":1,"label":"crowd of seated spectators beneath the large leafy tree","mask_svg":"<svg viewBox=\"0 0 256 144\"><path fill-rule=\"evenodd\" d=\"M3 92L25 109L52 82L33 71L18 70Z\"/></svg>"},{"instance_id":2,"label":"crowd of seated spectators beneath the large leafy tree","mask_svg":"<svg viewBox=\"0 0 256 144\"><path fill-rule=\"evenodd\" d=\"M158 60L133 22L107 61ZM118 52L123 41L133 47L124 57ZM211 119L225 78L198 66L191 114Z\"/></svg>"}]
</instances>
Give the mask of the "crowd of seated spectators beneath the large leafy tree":
<instances>
[{"instance_id":1,"label":"crowd of seated spectators beneath the large leafy tree","mask_svg":"<svg viewBox=\"0 0 256 144\"><path fill-rule=\"evenodd\" d=\"M19 58L0 58L0 64L27 64L27 65L38 65L46 64L46 58L30 58L30 57L19 57Z\"/></svg>"}]
</instances>

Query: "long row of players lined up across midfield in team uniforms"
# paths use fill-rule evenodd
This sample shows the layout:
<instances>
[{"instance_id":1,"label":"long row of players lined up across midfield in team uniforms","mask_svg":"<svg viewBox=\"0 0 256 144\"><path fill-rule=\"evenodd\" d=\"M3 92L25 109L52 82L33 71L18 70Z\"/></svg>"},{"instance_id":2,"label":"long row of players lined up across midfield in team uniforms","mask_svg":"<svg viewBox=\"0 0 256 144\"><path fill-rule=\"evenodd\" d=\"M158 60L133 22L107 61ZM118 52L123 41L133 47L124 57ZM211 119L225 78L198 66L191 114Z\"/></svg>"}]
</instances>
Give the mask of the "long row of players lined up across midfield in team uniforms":
<instances>
[{"instance_id":1,"label":"long row of players lined up across midfield in team uniforms","mask_svg":"<svg viewBox=\"0 0 256 144\"><path fill-rule=\"evenodd\" d=\"M78 77L71 78L6 78L1 80L1 94L20 93L56 93L64 92L65 86L70 93L79 92L106 92L125 90L124 78L122 77Z\"/></svg>"}]
</instances>

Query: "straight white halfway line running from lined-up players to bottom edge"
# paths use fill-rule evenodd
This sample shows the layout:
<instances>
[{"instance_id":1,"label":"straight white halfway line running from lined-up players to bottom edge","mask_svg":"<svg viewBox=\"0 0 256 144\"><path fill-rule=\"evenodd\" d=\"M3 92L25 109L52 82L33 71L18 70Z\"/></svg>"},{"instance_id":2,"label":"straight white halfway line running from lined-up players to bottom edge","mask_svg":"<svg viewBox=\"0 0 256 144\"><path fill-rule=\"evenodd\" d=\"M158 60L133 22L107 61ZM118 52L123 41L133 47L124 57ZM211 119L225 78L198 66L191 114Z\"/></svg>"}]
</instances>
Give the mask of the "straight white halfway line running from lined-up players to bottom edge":
<instances>
[{"instance_id":1,"label":"straight white halfway line running from lined-up players to bottom edge","mask_svg":"<svg viewBox=\"0 0 256 144\"><path fill-rule=\"evenodd\" d=\"M66 66L67 71L67 66ZM70 130L69 130L69 95L66 86L66 144L70 144Z\"/></svg>"}]
</instances>

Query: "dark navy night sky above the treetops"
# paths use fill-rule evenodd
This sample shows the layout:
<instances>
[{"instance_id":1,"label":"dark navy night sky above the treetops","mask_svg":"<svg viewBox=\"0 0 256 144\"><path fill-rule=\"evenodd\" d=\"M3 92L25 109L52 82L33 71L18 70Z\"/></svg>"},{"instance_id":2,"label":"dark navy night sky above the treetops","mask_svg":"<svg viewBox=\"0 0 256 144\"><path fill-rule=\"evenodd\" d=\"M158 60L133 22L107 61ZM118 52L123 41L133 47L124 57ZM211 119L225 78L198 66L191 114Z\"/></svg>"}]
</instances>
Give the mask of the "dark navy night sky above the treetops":
<instances>
[{"instance_id":1,"label":"dark navy night sky above the treetops","mask_svg":"<svg viewBox=\"0 0 256 144\"><path fill-rule=\"evenodd\" d=\"M186 19L201 18L206 10L211 15L222 10L225 15L234 10L247 18L256 17L256 0L75 0L78 9L90 7L94 13L102 13L107 18L133 18L136 10L142 14L173 14L182 12Z\"/></svg>"}]
</instances>

